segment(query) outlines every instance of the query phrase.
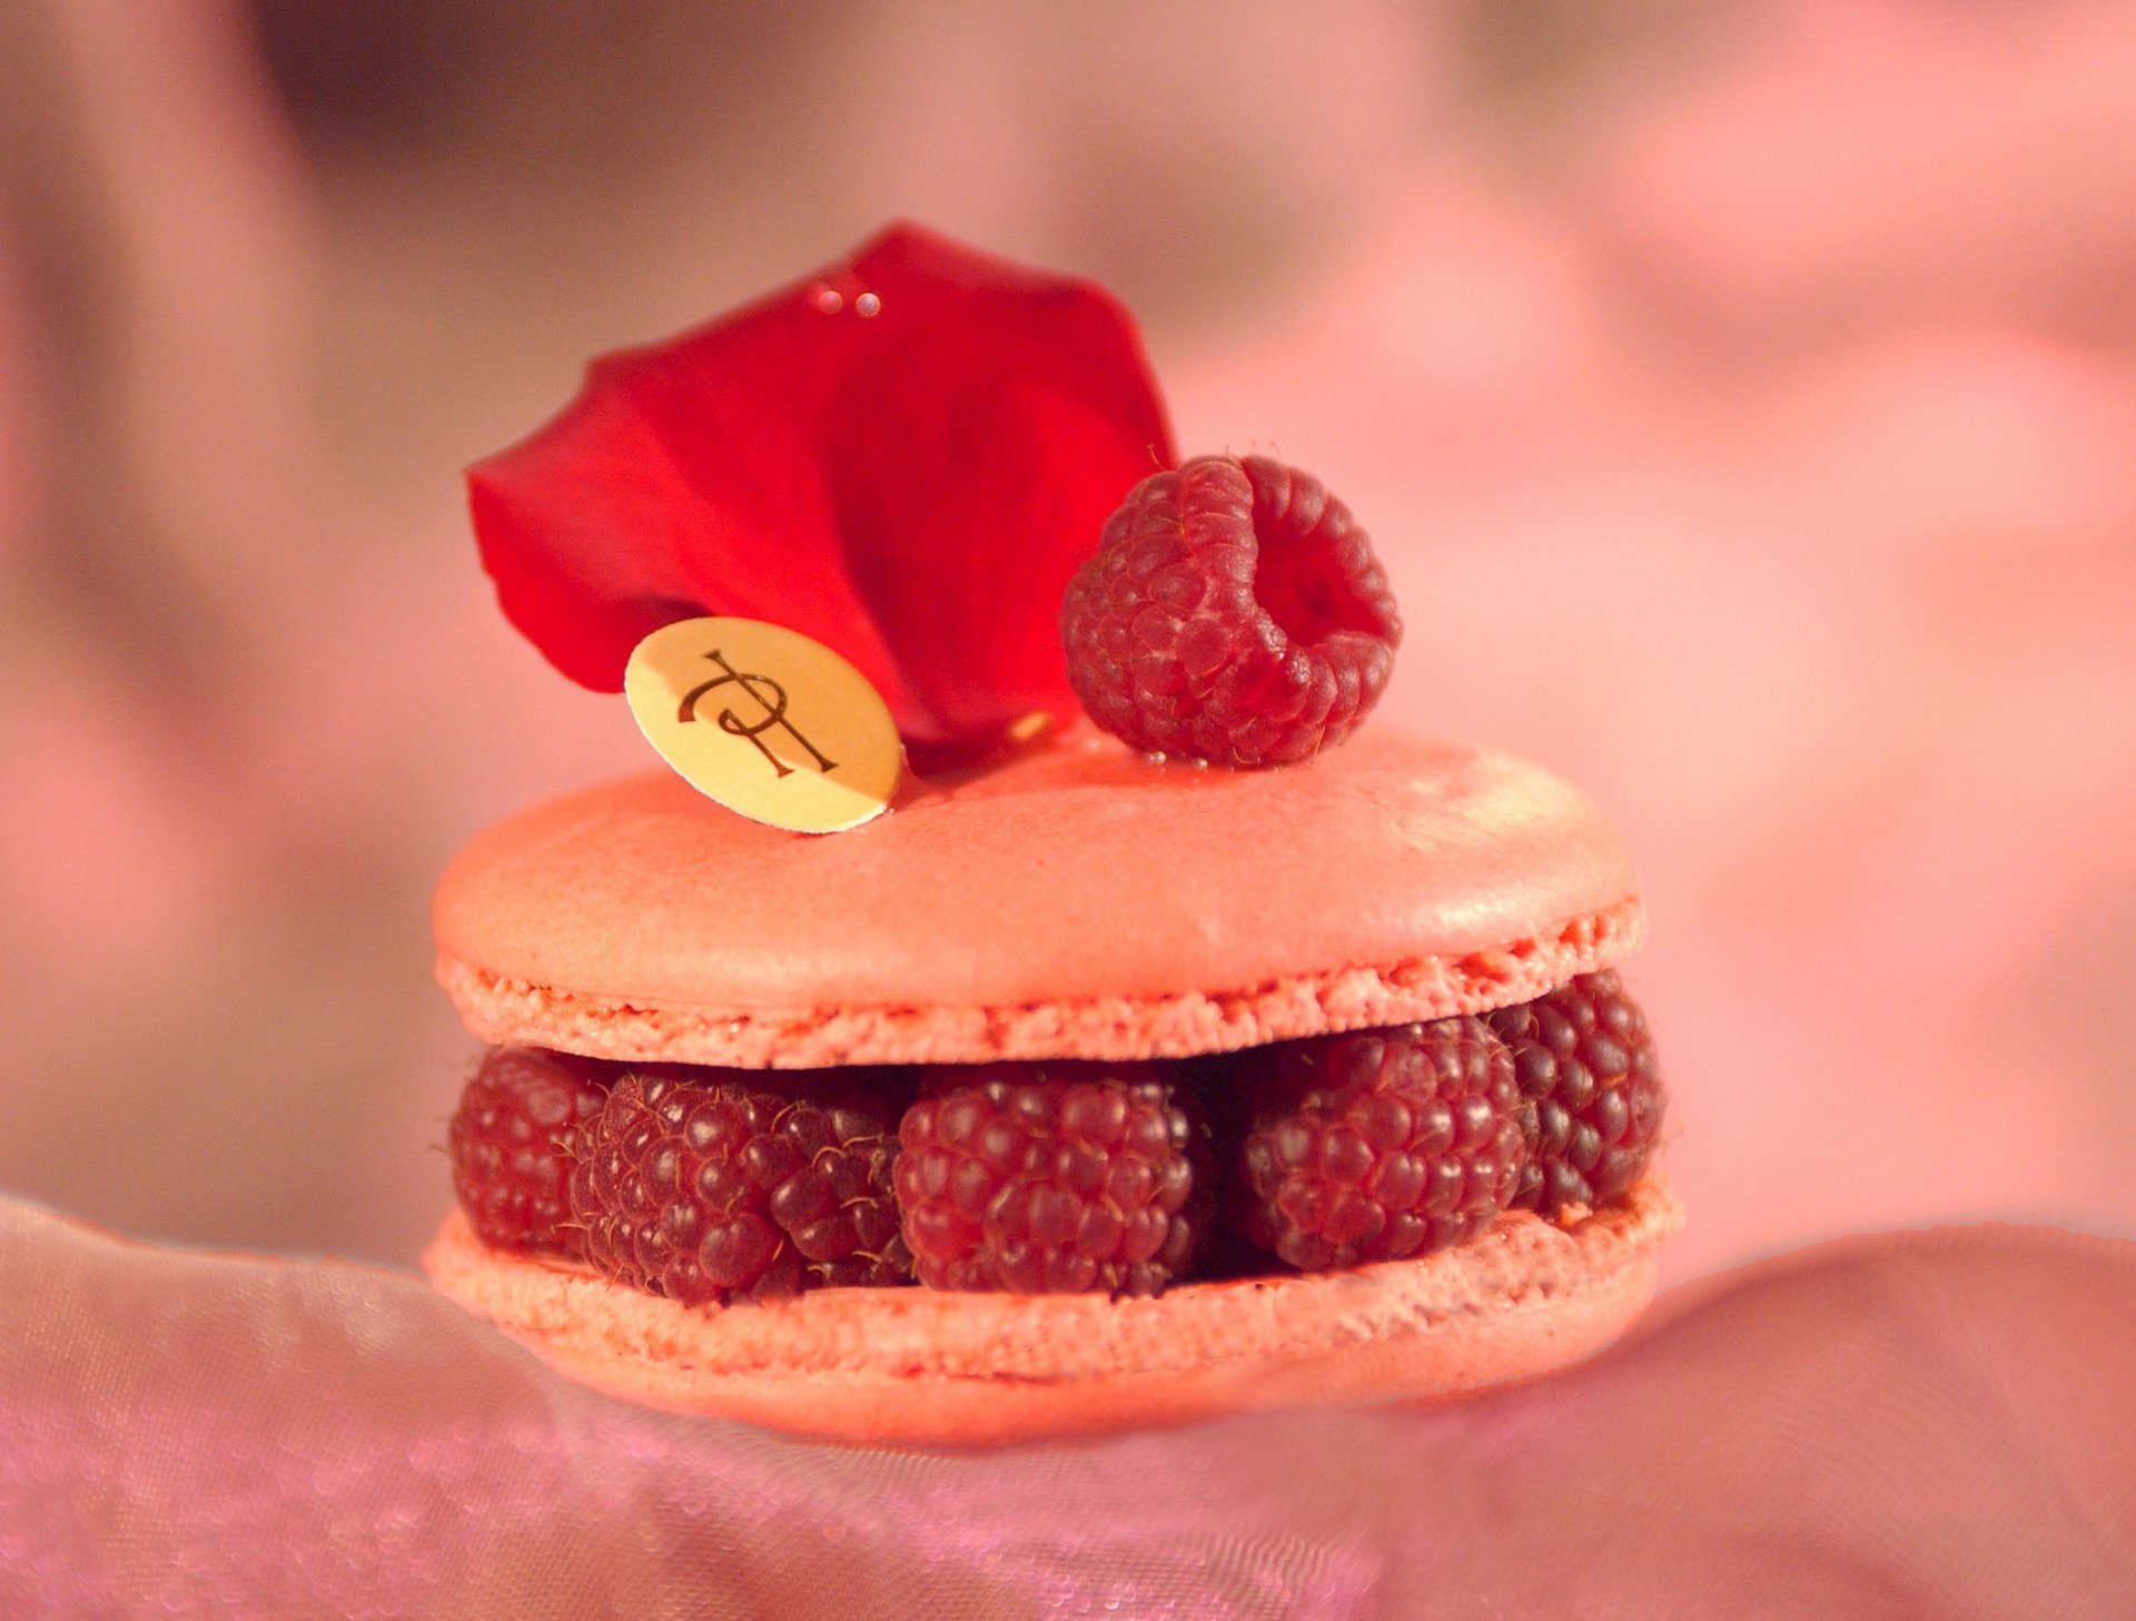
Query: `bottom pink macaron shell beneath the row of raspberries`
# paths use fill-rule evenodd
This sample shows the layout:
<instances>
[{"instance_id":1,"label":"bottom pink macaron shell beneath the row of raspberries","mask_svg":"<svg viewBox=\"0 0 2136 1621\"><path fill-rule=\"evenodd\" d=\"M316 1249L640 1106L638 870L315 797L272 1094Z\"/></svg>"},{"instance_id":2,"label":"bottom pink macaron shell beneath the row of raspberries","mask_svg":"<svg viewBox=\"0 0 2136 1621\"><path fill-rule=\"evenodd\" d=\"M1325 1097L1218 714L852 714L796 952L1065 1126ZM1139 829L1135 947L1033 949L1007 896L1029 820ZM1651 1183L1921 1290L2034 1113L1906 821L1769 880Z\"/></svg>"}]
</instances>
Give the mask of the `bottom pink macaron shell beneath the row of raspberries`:
<instances>
[{"instance_id":1,"label":"bottom pink macaron shell beneath the row of raspberries","mask_svg":"<svg viewBox=\"0 0 2136 1621\"><path fill-rule=\"evenodd\" d=\"M1679 1226L1649 1175L1570 1226L1512 1211L1420 1260L1153 1301L893 1288L698 1311L489 1252L457 1211L423 1264L446 1296L609 1395L801 1435L991 1446L1534 1378L1623 1333Z\"/></svg>"}]
</instances>

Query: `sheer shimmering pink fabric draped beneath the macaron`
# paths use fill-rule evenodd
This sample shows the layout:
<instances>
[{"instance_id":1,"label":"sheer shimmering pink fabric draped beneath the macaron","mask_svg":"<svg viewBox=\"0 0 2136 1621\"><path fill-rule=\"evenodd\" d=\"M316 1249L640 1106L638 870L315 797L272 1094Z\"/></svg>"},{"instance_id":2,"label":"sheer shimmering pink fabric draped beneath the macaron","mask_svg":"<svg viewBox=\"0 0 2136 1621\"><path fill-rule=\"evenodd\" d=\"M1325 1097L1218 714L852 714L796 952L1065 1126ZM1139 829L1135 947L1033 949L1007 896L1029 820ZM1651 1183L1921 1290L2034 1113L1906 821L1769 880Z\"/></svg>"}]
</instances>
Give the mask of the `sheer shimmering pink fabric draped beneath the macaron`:
<instances>
[{"instance_id":1,"label":"sheer shimmering pink fabric draped beneath the macaron","mask_svg":"<svg viewBox=\"0 0 2136 1621\"><path fill-rule=\"evenodd\" d=\"M2136 1612L2136 1247L1848 1241L1440 1410L1083 1448L619 1405L399 1273L0 1207L0 1610L38 1617Z\"/></svg>"}]
</instances>

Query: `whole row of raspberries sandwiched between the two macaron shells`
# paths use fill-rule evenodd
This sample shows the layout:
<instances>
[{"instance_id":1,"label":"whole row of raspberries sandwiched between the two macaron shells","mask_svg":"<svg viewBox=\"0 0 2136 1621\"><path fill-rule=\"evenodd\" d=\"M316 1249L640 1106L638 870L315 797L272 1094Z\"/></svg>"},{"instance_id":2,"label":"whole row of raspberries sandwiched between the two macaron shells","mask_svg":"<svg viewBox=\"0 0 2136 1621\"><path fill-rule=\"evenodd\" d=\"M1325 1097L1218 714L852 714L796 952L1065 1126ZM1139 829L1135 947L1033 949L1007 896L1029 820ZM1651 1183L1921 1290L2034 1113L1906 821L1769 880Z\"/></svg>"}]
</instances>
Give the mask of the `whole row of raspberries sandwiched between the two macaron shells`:
<instances>
[{"instance_id":1,"label":"whole row of raspberries sandwiched between the two macaron shells","mask_svg":"<svg viewBox=\"0 0 2136 1621\"><path fill-rule=\"evenodd\" d=\"M449 1130L491 1249L684 1305L829 1286L1158 1294L1576 1219L1666 1091L1615 972L1474 1019L1183 1061L628 1068L493 1049Z\"/></svg>"}]
</instances>

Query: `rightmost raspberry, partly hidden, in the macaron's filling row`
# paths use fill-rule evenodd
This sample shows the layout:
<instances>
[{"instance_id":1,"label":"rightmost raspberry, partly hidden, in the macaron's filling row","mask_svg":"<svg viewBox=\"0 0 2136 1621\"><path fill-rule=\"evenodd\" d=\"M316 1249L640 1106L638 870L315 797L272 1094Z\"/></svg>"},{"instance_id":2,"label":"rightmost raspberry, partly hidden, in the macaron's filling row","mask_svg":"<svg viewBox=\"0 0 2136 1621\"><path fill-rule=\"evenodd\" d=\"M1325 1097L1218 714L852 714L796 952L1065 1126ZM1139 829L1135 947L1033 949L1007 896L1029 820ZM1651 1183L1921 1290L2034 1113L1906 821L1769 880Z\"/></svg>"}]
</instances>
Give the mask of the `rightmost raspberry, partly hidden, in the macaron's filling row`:
<instances>
[{"instance_id":1,"label":"rightmost raspberry, partly hidden, in the macaron's filling row","mask_svg":"<svg viewBox=\"0 0 2136 1621\"><path fill-rule=\"evenodd\" d=\"M1668 1096L1647 1014L1617 974L1581 974L1489 1019L1521 1083L1527 1170L1512 1202L1555 1215L1564 1205L1602 1205L1638 1181Z\"/></svg>"}]
</instances>

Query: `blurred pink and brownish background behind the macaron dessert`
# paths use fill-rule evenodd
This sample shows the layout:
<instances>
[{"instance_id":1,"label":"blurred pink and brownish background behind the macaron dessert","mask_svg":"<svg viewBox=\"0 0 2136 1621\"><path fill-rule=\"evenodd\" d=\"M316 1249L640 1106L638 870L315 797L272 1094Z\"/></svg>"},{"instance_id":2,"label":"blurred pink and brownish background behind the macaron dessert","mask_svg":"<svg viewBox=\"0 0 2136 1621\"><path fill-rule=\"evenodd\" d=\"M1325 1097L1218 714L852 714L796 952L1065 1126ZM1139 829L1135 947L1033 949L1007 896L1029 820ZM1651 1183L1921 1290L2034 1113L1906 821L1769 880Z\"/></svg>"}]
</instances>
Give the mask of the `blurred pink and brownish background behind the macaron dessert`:
<instances>
[{"instance_id":1,"label":"blurred pink and brownish background behind the macaron dessert","mask_svg":"<svg viewBox=\"0 0 2136 1621\"><path fill-rule=\"evenodd\" d=\"M1675 1277L2136 1232L2121 0L0 11L0 1187L412 1260L453 848L641 765L459 468L912 216L1371 528L1647 876Z\"/></svg>"}]
</instances>

